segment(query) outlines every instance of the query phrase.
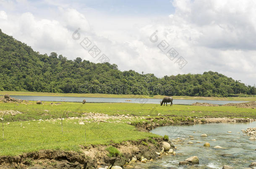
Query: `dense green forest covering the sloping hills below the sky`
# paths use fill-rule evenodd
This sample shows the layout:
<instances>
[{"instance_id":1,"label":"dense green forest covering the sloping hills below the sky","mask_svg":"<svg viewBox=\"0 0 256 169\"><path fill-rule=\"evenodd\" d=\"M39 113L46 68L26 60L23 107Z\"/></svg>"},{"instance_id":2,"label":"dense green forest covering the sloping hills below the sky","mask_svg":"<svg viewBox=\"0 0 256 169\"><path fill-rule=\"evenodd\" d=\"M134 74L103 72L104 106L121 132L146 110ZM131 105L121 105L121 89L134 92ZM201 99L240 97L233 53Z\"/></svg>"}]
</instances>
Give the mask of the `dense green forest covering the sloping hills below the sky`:
<instances>
[{"instance_id":1,"label":"dense green forest covering the sloping hills below the sky","mask_svg":"<svg viewBox=\"0 0 256 169\"><path fill-rule=\"evenodd\" d=\"M255 86L212 71L157 78L132 70L122 72L110 63L96 64L81 58L72 61L54 52L42 55L1 30L0 91L217 97L256 94Z\"/></svg>"}]
</instances>

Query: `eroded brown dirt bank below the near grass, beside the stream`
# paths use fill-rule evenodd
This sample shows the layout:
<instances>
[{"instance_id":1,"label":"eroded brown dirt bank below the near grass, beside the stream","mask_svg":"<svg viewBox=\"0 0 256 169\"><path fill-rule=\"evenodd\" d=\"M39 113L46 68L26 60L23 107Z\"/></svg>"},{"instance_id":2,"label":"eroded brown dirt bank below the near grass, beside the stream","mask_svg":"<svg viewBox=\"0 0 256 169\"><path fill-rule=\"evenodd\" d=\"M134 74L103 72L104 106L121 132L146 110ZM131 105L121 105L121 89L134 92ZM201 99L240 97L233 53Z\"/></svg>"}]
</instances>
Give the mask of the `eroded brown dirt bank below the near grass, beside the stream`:
<instances>
[{"instance_id":1,"label":"eroded brown dirt bank below the near grass, beside the stream","mask_svg":"<svg viewBox=\"0 0 256 169\"><path fill-rule=\"evenodd\" d=\"M162 148L162 138L144 139L139 141L124 141L120 144L111 143L120 151L116 157L108 156L105 145L81 146L81 152L40 150L37 152L25 153L20 156L0 156L0 168L21 168L21 169L97 169L99 167L114 165L123 166L130 159L142 156L146 159L157 159ZM170 144L171 142L168 141ZM174 146L171 144L172 149Z\"/></svg>"}]
</instances>

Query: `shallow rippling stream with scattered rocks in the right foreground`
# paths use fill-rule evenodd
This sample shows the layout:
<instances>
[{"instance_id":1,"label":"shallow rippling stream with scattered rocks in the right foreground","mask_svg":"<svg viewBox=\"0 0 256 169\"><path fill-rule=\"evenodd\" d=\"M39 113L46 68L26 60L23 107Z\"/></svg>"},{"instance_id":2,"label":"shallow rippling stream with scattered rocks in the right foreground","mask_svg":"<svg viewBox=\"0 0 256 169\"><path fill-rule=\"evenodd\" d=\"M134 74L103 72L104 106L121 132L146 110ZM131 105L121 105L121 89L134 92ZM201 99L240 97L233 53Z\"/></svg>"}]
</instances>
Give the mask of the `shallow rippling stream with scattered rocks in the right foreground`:
<instances>
[{"instance_id":1,"label":"shallow rippling stream with scattered rocks in the right foreground","mask_svg":"<svg viewBox=\"0 0 256 169\"><path fill-rule=\"evenodd\" d=\"M256 121L253 123L236 124L195 124L191 126L165 126L152 130L154 134L169 136L169 139L180 137L185 140L180 142L172 141L176 147L176 155L163 156L162 159L133 165L144 169L222 169L222 166L228 165L235 169L248 167L251 162L256 161L256 141L249 140L249 136L243 136L242 129L256 127ZM232 131L232 133L227 133ZM195 132L195 133L194 133ZM240 132L238 134L237 132ZM207 137L201 137L201 134L207 134ZM194 140L190 140L193 136ZM216 141L211 141L216 139ZM192 141L194 144L188 144ZM196 143L201 141L202 143ZM204 147L204 143L209 142L211 147ZM214 149L214 146L222 146L227 149ZM232 154L232 157L223 157L222 154ZM198 156L199 164L194 166L179 166L179 161L185 161L188 157ZM172 168L173 167L173 168Z\"/></svg>"}]
</instances>

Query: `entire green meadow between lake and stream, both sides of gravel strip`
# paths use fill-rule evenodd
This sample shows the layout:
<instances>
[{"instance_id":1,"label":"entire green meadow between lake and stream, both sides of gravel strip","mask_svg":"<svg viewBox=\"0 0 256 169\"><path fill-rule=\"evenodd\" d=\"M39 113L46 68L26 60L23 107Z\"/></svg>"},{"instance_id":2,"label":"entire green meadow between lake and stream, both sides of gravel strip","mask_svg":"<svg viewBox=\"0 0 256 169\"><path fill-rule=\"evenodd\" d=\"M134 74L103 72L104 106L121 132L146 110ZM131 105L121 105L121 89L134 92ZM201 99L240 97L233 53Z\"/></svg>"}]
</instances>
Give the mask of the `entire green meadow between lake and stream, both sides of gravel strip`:
<instances>
[{"instance_id":1,"label":"entire green meadow between lake and stream, both sides of gravel strip","mask_svg":"<svg viewBox=\"0 0 256 169\"><path fill-rule=\"evenodd\" d=\"M168 115L173 119L184 117L238 117L256 119L256 111L252 108L236 108L235 106L160 106L159 104L138 103L68 103L59 105L43 102L42 105L29 103L0 103L0 116L5 110L16 110L21 114L4 116L4 140L2 127L0 128L0 156L18 155L23 152L40 149L61 149L79 151L79 145L108 144L110 140L120 143L126 140L138 140L148 137L157 137L148 132L139 132L134 126L128 125L129 120L120 120L123 123L85 123L80 125L78 119L70 120L67 117L83 117L85 113L94 112L107 115L130 114L144 118L159 117L158 114ZM61 118L67 108L63 120L61 133ZM47 110L47 111L46 111ZM149 116L148 116L149 115ZM51 119L52 118L52 119ZM42 120L40 120L42 119ZM50 120L47 120L50 119ZM113 121L113 120L108 120ZM132 123L146 121L134 118ZM85 137L86 131L86 137ZM85 142L86 141L86 142Z\"/></svg>"}]
</instances>

